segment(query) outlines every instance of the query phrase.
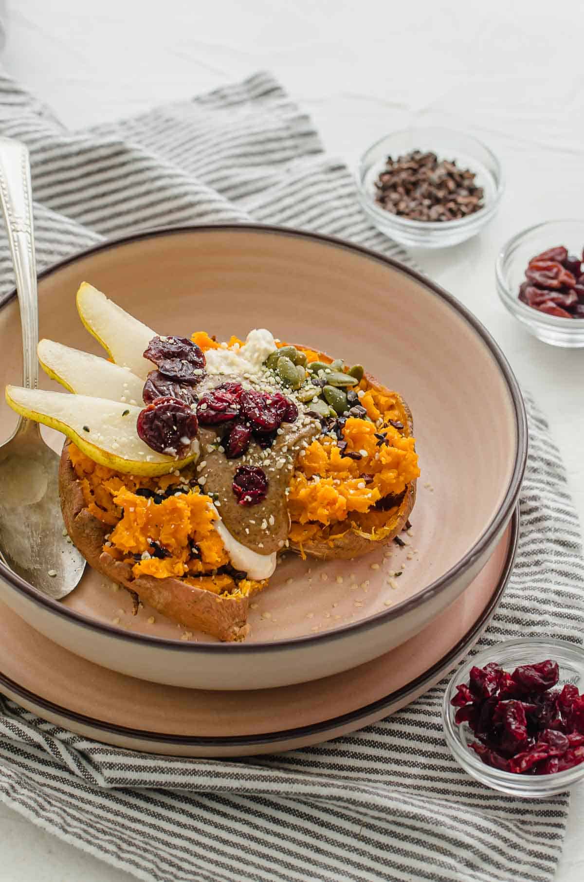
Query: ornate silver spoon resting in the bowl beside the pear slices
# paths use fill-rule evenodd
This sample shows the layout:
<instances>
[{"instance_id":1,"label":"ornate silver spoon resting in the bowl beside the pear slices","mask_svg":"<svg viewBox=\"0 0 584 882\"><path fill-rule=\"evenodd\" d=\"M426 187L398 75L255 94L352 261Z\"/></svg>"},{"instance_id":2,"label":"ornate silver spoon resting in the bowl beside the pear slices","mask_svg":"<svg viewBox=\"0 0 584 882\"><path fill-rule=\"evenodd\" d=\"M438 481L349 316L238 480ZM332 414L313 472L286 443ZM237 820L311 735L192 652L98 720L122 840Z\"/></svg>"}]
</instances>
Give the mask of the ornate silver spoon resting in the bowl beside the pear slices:
<instances>
[{"instance_id":1,"label":"ornate silver spoon resting in the bowl beside the pear slices","mask_svg":"<svg viewBox=\"0 0 584 882\"><path fill-rule=\"evenodd\" d=\"M30 165L26 146L11 138L0 138L0 203L19 296L23 385L36 389L39 307ZM56 600L70 594L86 565L64 535L58 471L59 456L42 440L38 423L20 416L0 446L0 558Z\"/></svg>"}]
</instances>

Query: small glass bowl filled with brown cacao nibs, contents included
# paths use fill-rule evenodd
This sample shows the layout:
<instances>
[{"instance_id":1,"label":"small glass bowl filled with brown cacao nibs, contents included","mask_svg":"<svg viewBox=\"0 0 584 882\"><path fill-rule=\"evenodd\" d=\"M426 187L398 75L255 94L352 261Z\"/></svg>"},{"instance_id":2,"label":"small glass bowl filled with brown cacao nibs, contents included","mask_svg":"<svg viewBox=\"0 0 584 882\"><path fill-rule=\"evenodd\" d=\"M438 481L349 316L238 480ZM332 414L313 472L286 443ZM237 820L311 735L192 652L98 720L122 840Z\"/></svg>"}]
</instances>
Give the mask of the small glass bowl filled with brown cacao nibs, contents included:
<instances>
[{"instance_id":1,"label":"small glass bowl filled with brown cacao nibs, contents included","mask_svg":"<svg viewBox=\"0 0 584 882\"><path fill-rule=\"evenodd\" d=\"M497 157L477 138L438 126L395 131L369 147L357 172L365 213L403 245L445 248L476 235L504 191Z\"/></svg>"}]
</instances>

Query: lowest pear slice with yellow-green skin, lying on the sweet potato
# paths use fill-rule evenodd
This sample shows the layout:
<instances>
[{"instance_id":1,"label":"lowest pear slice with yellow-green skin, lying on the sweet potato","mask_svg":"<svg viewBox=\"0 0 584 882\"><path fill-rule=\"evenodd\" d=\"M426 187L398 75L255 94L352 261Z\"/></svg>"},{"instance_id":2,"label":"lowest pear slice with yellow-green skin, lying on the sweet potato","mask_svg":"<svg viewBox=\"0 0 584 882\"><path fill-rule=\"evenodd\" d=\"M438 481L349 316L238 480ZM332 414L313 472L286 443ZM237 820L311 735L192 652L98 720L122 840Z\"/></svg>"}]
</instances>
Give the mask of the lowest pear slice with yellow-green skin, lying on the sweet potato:
<instances>
[{"instance_id":1,"label":"lowest pear slice with yellow-green skin, lying on the sweet potato","mask_svg":"<svg viewBox=\"0 0 584 882\"><path fill-rule=\"evenodd\" d=\"M152 450L136 431L140 407L120 401L13 385L6 386L6 400L17 414L63 432L94 462L118 472L168 475L198 457L198 441L183 460Z\"/></svg>"}]
</instances>

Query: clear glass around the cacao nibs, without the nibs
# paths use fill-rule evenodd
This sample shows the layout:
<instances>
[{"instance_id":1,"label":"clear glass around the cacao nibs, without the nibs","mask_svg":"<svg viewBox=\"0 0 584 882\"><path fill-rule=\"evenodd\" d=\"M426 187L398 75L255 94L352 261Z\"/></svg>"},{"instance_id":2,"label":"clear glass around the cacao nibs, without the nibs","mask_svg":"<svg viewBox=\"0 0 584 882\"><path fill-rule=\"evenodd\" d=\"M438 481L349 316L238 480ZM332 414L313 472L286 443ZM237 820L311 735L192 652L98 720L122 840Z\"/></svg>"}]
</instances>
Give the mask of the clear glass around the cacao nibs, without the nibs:
<instances>
[{"instance_id":1,"label":"clear glass around the cacao nibs, without the nibs","mask_svg":"<svg viewBox=\"0 0 584 882\"><path fill-rule=\"evenodd\" d=\"M484 206L456 221L410 221L392 214L375 201L375 181L386 166L387 156L401 156L411 150L436 153L438 161L456 160L460 168L475 172L476 185L483 187ZM489 147L477 138L439 126L411 127L394 131L363 153L357 171L357 187L363 210L382 233L403 245L445 248L476 235L497 213L504 191L501 165Z\"/></svg>"}]
</instances>

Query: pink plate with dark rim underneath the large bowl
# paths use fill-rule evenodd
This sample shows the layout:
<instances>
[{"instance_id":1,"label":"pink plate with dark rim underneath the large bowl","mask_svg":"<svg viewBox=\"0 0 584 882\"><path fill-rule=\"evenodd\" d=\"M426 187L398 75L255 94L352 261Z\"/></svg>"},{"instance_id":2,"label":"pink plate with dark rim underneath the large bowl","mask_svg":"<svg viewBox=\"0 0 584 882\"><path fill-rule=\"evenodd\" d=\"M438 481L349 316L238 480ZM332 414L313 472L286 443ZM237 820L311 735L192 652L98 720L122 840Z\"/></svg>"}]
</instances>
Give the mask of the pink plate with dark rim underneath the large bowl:
<instances>
[{"instance_id":1,"label":"pink plate with dark rim underneath the large bowl","mask_svg":"<svg viewBox=\"0 0 584 882\"><path fill-rule=\"evenodd\" d=\"M80 735L139 751L233 757L326 741L393 714L468 653L509 578L518 524L515 512L483 570L428 628L341 674L253 691L147 683L72 655L2 606L2 691Z\"/></svg>"}]
</instances>

